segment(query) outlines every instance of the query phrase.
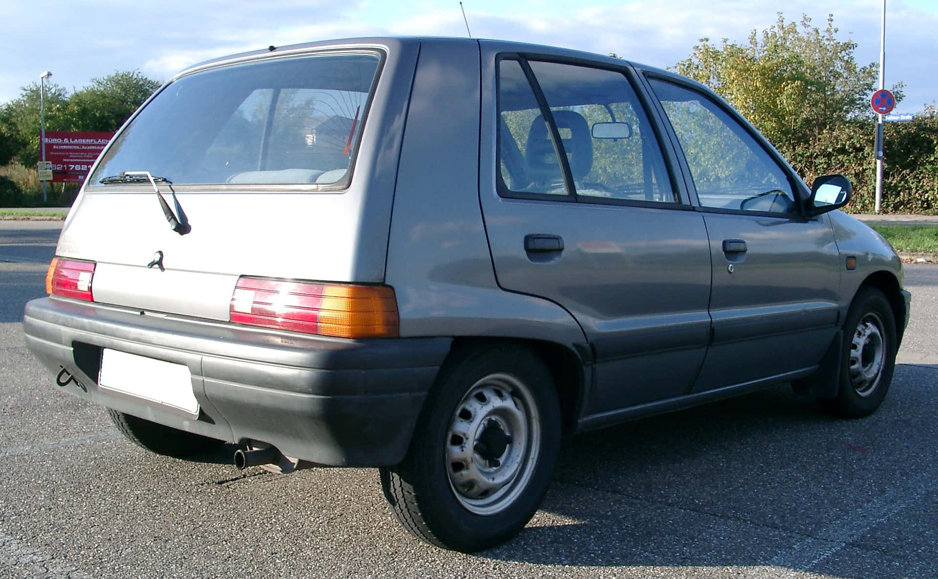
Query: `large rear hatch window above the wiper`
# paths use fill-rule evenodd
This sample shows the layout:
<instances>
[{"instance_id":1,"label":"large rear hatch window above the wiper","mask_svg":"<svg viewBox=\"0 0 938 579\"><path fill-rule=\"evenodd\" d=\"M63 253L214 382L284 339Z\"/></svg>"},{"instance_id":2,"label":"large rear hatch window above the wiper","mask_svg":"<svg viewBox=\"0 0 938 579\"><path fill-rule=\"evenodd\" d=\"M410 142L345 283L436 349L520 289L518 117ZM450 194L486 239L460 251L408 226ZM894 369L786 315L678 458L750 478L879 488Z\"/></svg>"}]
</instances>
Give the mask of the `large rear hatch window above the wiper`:
<instances>
[{"instance_id":1,"label":"large rear hatch window above the wiper","mask_svg":"<svg viewBox=\"0 0 938 579\"><path fill-rule=\"evenodd\" d=\"M124 171L174 185L345 185L381 61L325 52L183 76L117 136L88 185Z\"/></svg>"}]
</instances>

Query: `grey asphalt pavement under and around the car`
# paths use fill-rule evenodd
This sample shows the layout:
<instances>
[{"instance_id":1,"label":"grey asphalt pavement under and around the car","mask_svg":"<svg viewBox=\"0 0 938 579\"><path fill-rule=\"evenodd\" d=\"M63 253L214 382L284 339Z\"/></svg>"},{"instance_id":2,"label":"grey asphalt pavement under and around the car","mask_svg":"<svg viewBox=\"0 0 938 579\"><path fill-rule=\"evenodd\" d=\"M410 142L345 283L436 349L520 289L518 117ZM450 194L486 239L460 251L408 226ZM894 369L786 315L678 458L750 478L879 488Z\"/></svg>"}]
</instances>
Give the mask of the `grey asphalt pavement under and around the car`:
<instances>
[{"instance_id":1,"label":"grey asphalt pavement under and around the car","mask_svg":"<svg viewBox=\"0 0 938 579\"><path fill-rule=\"evenodd\" d=\"M870 418L782 386L569 438L522 534L461 555L399 527L374 469L166 458L56 392L20 321L60 226L0 222L0 577L938 577L938 266L906 266Z\"/></svg>"}]
</instances>

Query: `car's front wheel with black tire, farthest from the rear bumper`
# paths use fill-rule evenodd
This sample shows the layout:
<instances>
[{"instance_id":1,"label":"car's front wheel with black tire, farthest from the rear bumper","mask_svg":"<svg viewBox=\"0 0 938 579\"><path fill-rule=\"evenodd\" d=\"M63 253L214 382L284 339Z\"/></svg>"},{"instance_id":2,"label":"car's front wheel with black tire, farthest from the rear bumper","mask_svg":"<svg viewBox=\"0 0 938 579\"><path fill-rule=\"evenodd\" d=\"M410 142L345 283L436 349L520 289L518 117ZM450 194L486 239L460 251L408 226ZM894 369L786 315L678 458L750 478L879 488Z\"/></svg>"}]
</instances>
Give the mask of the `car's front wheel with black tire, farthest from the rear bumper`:
<instances>
[{"instance_id":1,"label":"car's front wheel with black tire, farthest from the rear bumper","mask_svg":"<svg viewBox=\"0 0 938 579\"><path fill-rule=\"evenodd\" d=\"M896 319L882 291L860 289L843 324L840 388L834 398L819 398L829 413L863 418L885 399L896 367Z\"/></svg>"}]
</instances>

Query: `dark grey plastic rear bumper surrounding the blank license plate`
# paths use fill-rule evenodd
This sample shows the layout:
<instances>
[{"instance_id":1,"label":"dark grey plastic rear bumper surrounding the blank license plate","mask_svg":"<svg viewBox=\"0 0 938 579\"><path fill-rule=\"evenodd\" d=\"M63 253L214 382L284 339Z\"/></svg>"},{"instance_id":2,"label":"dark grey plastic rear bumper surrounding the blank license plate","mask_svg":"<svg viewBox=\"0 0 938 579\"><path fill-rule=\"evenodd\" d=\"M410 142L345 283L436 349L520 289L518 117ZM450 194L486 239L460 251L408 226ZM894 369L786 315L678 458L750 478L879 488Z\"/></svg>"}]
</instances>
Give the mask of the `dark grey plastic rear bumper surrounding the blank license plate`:
<instances>
[{"instance_id":1,"label":"dark grey plastic rear bumper surrounding the blank license plate","mask_svg":"<svg viewBox=\"0 0 938 579\"><path fill-rule=\"evenodd\" d=\"M342 467L401 461L451 342L307 336L51 298L26 304L23 329L27 347L68 393L180 430L257 440ZM103 348L189 366L198 419L99 390Z\"/></svg>"}]
</instances>

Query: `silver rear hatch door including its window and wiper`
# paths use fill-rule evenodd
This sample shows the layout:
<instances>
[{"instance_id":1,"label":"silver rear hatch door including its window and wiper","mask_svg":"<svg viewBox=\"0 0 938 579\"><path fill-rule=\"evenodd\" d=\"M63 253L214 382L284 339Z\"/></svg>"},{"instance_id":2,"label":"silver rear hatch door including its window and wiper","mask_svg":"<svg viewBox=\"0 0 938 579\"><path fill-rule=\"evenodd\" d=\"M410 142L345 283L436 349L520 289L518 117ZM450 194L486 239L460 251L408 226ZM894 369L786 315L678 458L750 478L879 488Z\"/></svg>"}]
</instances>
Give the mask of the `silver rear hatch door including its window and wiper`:
<instances>
[{"instance_id":1,"label":"silver rear hatch door including its window and wiper","mask_svg":"<svg viewBox=\"0 0 938 579\"><path fill-rule=\"evenodd\" d=\"M240 275L383 281L416 41L284 52L195 67L116 135L57 248L96 302L228 319Z\"/></svg>"}]
</instances>

